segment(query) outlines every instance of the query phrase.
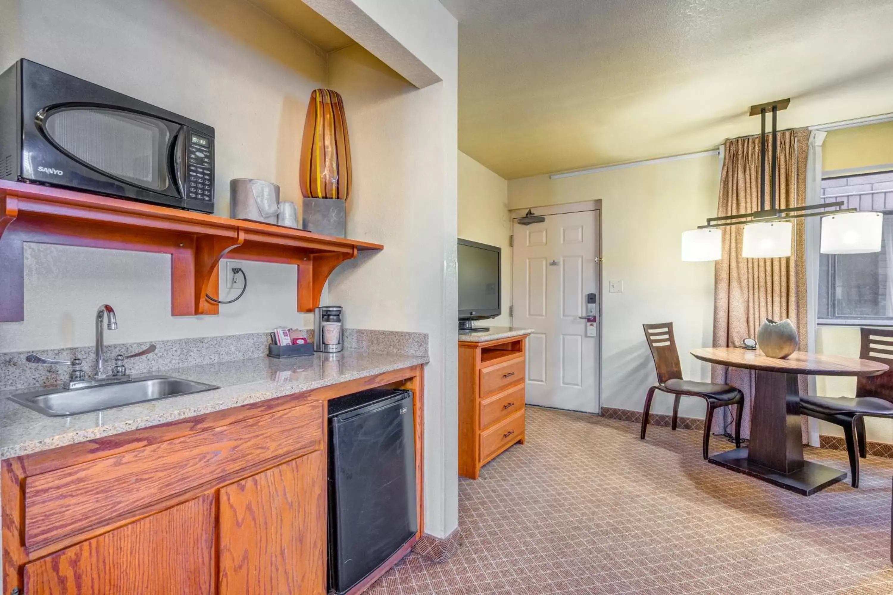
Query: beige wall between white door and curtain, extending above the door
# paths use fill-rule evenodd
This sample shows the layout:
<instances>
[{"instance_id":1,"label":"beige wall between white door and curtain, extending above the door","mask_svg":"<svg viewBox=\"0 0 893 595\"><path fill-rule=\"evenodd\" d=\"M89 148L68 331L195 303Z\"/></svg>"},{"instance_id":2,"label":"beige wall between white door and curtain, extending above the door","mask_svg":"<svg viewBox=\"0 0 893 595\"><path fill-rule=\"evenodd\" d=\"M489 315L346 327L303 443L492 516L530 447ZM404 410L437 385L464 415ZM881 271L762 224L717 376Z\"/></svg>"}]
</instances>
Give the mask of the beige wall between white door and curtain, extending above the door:
<instances>
[{"instance_id":1,"label":"beige wall between white door and curtain, extending above the door","mask_svg":"<svg viewBox=\"0 0 893 595\"><path fill-rule=\"evenodd\" d=\"M672 321L683 373L707 380L709 367L689 355L713 342L714 267L682 262L680 234L716 214L719 159L700 157L551 180L509 180L509 208L602 201L602 405L641 409L655 368L642 324ZM622 280L623 293L608 293ZM656 399L655 413L672 410ZM683 400L680 414L704 416L704 403Z\"/></svg>"}]
</instances>

